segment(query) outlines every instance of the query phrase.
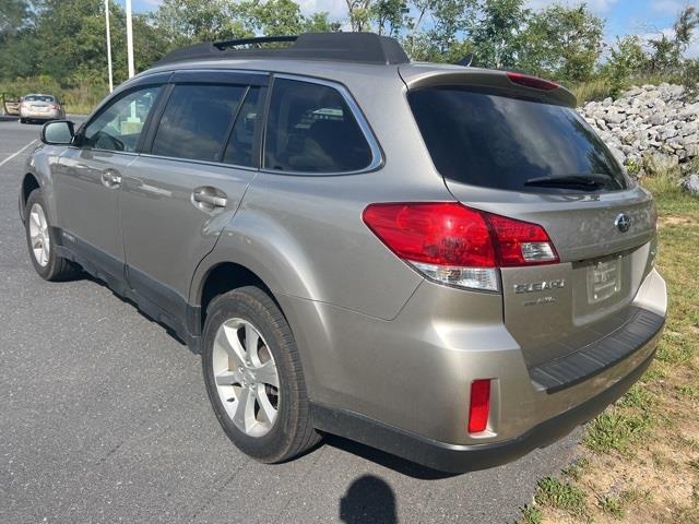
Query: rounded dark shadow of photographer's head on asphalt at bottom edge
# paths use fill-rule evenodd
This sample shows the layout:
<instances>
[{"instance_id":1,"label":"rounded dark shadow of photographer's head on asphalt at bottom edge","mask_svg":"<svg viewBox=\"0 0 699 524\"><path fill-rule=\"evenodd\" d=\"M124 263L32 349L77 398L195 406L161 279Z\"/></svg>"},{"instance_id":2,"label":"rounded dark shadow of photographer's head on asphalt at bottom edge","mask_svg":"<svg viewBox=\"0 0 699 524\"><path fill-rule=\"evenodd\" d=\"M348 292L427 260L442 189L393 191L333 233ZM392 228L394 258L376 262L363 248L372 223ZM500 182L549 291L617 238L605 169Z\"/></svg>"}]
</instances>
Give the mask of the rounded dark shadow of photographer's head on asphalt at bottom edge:
<instances>
[{"instance_id":1,"label":"rounded dark shadow of photographer's head on asphalt at bottom edge","mask_svg":"<svg viewBox=\"0 0 699 524\"><path fill-rule=\"evenodd\" d=\"M340 521L346 524L396 524L393 489L375 475L357 478L340 500Z\"/></svg>"}]
</instances>

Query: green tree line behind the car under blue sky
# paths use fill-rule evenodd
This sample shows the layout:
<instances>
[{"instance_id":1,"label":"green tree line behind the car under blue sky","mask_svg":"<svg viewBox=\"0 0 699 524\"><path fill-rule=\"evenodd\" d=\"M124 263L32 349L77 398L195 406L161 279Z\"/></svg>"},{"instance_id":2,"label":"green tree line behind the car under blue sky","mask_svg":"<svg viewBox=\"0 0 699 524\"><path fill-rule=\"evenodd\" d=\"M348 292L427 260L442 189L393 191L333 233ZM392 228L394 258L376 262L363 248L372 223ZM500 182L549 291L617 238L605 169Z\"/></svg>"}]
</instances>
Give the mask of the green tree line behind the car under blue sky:
<instances>
[{"instance_id":1,"label":"green tree line behind the car under blue sky","mask_svg":"<svg viewBox=\"0 0 699 524\"><path fill-rule=\"evenodd\" d=\"M188 44L304 32L374 31L401 40L414 60L517 69L574 85L604 80L699 76L685 57L699 13L686 8L671 35L604 41L605 21L584 3L526 8L525 0L345 0L344 20L305 14L292 0L164 0L133 16L135 67ZM115 82L126 80L126 14L110 2ZM34 79L60 88L106 85L103 0L0 0L0 85ZM38 80L37 80L38 79Z\"/></svg>"}]
</instances>

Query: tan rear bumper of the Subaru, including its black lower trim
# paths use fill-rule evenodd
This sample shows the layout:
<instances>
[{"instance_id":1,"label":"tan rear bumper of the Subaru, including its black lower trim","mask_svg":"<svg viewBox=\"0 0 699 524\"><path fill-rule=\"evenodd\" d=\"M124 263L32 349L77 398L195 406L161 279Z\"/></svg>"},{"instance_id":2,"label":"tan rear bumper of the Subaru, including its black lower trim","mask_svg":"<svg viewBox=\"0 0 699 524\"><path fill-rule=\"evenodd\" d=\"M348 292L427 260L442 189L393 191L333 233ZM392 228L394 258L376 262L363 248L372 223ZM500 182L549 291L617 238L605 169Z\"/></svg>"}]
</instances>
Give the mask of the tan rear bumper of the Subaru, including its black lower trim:
<instances>
[{"instance_id":1,"label":"tan rear bumper of the Subaru, including its black lower trim","mask_svg":"<svg viewBox=\"0 0 699 524\"><path fill-rule=\"evenodd\" d=\"M425 283L393 321L381 321L282 296L318 429L450 472L506 463L624 394L651 361L667 306L653 270L632 303L641 321L542 370L557 380L548 384L498 319L499 299ZM653 329L644 329L647 317ZM578 366L580 358L597 366ZM478 378L491 380L490 416L487 430L473 434L470 384Z\"/></svg>"}]
</instances>

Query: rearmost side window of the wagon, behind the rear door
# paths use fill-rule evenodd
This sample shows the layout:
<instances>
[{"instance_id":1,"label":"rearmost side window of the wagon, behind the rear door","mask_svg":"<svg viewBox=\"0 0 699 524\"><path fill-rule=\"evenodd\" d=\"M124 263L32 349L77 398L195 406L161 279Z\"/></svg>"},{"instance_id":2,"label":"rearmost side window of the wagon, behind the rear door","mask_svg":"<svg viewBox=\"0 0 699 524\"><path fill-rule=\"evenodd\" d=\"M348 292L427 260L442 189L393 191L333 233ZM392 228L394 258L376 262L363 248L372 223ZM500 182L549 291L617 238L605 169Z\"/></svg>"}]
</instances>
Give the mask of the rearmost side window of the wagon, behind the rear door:
<instances>
[{"instance_id":1,"label":"rearmost side window of the wagon, behind the rear door","mask_svg":"<svg viewBox=\"0 0 699 524\"><path fill-rule=\"evenodd\" d=\"M264 167L297 172L348 172L371 164L369 144L337 90L276 79L264 142Z\"/></svg>"}]
</instances>

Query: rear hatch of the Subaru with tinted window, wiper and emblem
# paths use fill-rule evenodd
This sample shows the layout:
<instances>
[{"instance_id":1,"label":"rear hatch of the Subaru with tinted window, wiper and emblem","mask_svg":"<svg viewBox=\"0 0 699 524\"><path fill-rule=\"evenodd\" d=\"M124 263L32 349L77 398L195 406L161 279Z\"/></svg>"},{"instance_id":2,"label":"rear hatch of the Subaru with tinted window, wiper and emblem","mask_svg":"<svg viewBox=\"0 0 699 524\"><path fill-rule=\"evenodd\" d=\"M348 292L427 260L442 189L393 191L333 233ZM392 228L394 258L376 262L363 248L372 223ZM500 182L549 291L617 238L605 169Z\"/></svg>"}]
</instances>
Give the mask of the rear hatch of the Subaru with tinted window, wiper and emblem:
<instances>
[{"instance_id":1,"label":"rear hatch of the Subaru with tinted window, wiper and emblem","mask_svg":"<svg viewBox=\"0 0 699 524\"><path fill-rule=\"evenodd\" d=\"M505 323L530 371L632 329L655 252L655 210L576 112L574 97L519 73L407 66L401 74L455 199L548 234L558 260L500 269ZM631 349L638 340L627 342Z\"/></svg>"}]
</instances>

